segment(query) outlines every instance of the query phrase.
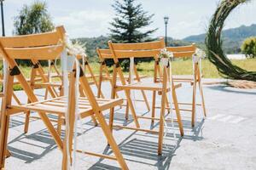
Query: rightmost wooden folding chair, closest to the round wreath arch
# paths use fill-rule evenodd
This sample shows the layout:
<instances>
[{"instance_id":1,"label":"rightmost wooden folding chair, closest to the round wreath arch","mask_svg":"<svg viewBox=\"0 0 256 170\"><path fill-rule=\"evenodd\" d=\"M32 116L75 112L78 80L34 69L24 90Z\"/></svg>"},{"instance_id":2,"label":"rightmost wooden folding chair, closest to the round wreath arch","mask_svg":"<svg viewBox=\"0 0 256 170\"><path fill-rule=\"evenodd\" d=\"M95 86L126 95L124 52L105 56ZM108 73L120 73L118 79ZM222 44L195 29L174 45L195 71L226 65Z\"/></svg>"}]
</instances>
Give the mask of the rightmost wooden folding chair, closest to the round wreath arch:
<instances>
[{"instance_id":1,"label":"rightmost wooden folding chair, closest to the round wreath arch","mask_svg":"<svg viewBox=\"0 0 256 170\"><path fill-rule=\"evenodd\" d=\"M171 51L174 55L174 58L181 59L181 58L192 58L193 54L195 54L196 46L195 43L189 46L180 46L180 47L167 47L168 51ZM189 82L193 88L192 94L192 103L179 103L179 105L191 105L192 109L181 109L181 111L191 111L192 118L191 118L191 125L192 127L195 126L195 114L196 114L196 106L201 105L204 116L207 116L205 99L203 95L203 88L201 84L201 61L193 62L193 74L192 75L173 75L174 82ZM196 88L197 84L200 91L201 96L201 104L196 104Z\"/></svg>"}]
</instances>

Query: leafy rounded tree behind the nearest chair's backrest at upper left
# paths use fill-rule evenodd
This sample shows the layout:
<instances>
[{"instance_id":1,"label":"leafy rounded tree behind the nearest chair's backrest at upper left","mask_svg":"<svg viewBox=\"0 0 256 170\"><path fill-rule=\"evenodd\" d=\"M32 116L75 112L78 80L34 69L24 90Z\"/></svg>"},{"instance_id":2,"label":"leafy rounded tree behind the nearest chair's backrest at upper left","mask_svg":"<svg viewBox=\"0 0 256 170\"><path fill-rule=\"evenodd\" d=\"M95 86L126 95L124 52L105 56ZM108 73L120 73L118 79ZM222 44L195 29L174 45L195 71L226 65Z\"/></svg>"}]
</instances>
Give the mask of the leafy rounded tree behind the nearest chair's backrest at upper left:
<instances>
[{"instance_id":1,"label":"leafy rounded tree behind the nearest chair's backrest at upper left","mask_svg":"<svg viewBox=\"0 0 256 170\"><path fill-rule=\"evenodd\" d=\"M20 14L15 16L15 35L27 35L54 30L45 2L36 1L31 6L25 5Z\"/></svg>"}]
</instances>

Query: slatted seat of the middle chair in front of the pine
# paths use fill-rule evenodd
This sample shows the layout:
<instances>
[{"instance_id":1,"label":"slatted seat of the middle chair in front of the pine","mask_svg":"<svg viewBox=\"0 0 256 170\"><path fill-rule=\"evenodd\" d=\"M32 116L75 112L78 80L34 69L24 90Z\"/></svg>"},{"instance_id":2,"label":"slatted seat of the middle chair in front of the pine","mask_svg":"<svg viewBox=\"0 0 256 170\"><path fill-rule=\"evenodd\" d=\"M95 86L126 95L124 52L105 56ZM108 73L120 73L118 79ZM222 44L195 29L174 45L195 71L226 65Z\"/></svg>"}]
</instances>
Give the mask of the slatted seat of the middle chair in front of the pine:
<instances>
[{"instance_id":1,"label":"slatted seat of the middle chair in front of the pine","mask_svg":"<svg viewBox=\"0 0 256 170\"><path fill-rule=\"evenodd\" d=\"M117 85L117 90L149 90L149 91L161 91L162 83L160 82L136 82L127 85ZM167 91L170 91L170 86L167 86ZM181 83L177 83L174 85L174 88L182 87Z\"/></svg>"}]
</instances>

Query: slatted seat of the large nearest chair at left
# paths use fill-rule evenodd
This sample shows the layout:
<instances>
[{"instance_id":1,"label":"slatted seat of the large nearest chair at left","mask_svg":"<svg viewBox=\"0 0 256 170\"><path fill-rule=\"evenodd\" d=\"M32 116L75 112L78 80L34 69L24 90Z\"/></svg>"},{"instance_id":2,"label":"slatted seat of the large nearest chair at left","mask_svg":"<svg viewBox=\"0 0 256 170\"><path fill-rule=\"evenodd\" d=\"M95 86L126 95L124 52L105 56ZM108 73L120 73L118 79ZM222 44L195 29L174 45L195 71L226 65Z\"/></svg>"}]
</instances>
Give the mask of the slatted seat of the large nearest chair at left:
<instances>
[{"instance_id":1,"label":"slatted seat of the large nearest chair at left","mask_svg":"<svg viewBox=\"0 0 256 170\"><path fill-rule=\"evenodd\" d=\"M27 105L10 105L9 108L21 111L40 111L51 114L59 114L65 116L65 105L67 97L59 97L55 99L47 99ZM96 99L101 111L106 111L113 106L121 105L123 99ZM79 98L79 114L81 117L86 117L94 114L90 102L87 98Z\"/></svg>"}]
</instances>

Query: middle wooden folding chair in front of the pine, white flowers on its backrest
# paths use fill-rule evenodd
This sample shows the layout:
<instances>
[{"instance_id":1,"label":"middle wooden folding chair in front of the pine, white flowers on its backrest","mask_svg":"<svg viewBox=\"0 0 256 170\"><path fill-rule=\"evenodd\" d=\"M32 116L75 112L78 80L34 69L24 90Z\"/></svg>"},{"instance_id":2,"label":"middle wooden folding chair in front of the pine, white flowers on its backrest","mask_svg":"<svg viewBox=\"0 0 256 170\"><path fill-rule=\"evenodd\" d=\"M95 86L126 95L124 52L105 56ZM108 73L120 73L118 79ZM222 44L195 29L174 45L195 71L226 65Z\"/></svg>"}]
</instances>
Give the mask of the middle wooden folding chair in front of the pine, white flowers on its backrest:
<instances>
[{"instance_id":1,"label":"middle wooden folding chair in front of the pine, white flowers on its backrest","mask_svg":"<svg viewBox=\"0 0 256 170\"><path fill-rule=\"evenodd\" d=\"M181 116L179 113L178 105L177 105L177 96L175 89L181 87L181 84L176 84L172 82L172 84L167 86L167 80L172 79L172 75L167 74L167 70L169 68L166 68L164 66L163 68L163 81L157 81L157 77L160 70L158 55L160 54L160 50L162 48L165 48L165 42L163 39L160 39L160 41L156 42L141 42L141 43L113 43L111 41L108 42L108 46L112 52L112 57L114 61L113 65L113 90L112 90L112 98L115 98L115 94L123 90L125 91L125 96L128 101L129 108L131 109L131 115L134 119L136 127L128 127L128 126L113 126L113 109L110 112L110 118L109 118L109 125L111 128L113 127L119 127L119 128L126 128L136 131L143 131L148 133L159 133L159 145L158 145L158 154L161 155L162 153L162 146L163 146L163 134L164 134L164 122L165 116L166 116L166 94L171 91L172 89L172 99L175 105L176 109L176 115L177 115L177 122L179 126L179 130L181 135L183 135L183 123L181 120ZM154 58L154 81L153 82L135 82L135 83L127 83L125 81L125 77L123 74L122 69L119 65L119 59L122 58ZM117 74L119 74L119 79L121 82L121 85L116 83L116 77ZM161 109L160 109L160 118L156 118L154 116L137 116L137 113L134 109L134 106L131 101L131 90L148 90L153 91L153 93L159 92L161 94ZM153 99L153 105L155 105L155 99ZM159 131L155 130L148 130L143 129L140 127L140 124L138 122L138 119L149 119L149 120L156 120L160 121L160 129Z\"/></svg>"}]
</instances>

